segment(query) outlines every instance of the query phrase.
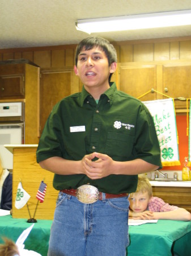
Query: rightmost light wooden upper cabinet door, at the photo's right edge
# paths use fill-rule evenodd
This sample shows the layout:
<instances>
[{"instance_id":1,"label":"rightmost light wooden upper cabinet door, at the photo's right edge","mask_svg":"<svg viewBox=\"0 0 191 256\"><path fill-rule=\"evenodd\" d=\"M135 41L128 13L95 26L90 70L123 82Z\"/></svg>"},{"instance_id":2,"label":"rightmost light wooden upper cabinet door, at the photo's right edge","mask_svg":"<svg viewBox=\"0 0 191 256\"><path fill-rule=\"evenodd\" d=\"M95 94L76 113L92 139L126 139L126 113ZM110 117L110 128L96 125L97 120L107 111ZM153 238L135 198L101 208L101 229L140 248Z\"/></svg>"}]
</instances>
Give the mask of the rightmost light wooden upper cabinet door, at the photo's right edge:
<instances>
[{"instance_id":1,"label":"rightmost light wooden upper cabinet door, at the photo's right edge","mask_svg":"<svg viewBox=\"0 0 191 256\"><path fill-rule=\"evenodd\" d=\"M175 98L176 109L186 108L186 98L190 98L191 63L163 65L163 93Z\"/></svg>"}]
</instances>

